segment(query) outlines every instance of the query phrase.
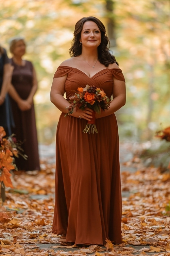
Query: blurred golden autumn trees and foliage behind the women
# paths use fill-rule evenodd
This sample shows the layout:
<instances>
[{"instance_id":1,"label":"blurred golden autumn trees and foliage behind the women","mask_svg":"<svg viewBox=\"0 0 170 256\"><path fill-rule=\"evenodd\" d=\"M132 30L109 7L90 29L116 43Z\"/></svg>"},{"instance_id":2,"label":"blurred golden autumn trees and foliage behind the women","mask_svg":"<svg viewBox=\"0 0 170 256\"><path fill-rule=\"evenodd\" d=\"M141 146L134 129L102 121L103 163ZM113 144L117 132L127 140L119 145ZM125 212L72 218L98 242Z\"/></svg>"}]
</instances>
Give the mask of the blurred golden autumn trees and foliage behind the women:
<instances>
[{"instance_id":1,"label":"blurred golden autumn trees and foliage behind the women","mask_svg":"<svg viewBox=\"0 0 170 256\"><path fill-rule=\"evenodd\" d=\"M69 58L74 25L84 16L105 24L125 75L127 103L116 113L121 137L151 139L160 123L168 125L170 0L0 0L0 5L0 43L8 51L10 38L25 37L26 57L37 70L40 142L54 141L60 111L50 103L53 74Z\"/></svg>"}]
</instances>

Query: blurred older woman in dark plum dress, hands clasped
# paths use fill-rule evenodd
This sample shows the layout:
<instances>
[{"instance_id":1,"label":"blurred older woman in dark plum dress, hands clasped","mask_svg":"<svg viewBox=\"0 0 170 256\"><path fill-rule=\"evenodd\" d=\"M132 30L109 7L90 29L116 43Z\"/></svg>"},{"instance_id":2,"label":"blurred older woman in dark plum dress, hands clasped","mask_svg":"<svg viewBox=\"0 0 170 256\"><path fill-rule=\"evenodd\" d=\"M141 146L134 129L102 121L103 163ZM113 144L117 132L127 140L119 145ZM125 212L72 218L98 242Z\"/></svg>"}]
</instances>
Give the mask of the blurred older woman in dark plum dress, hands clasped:
<instances>
[{"instance_id":1,"label":"blurred older woman in dark plum dress, hands clasped","mask_svg":"<svg viewBox=\"0 0 170 256\"><path fill-rule=\"evenodd\" d=\"M32 62L23 60L26 53L26 43L23 38L11 40L10 51L13 54L11 65L14 67L12 84L9 89L15 129L18 141L23 142L21 147L28 160L22 156L16 158L16 166L20 170L40 170L38 155L38 139L35 122L33 96L37 90L37 79Z\"/></svg>"}]
</instances>

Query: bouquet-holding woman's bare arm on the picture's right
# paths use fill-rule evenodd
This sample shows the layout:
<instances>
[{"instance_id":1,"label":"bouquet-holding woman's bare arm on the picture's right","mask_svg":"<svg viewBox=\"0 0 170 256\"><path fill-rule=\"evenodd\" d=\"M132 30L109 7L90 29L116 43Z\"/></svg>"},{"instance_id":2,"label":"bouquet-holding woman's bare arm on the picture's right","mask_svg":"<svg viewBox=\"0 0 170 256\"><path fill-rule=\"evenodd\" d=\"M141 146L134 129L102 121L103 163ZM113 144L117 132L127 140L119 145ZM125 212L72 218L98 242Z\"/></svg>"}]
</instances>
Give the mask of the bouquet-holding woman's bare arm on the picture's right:
<instances>
[{"instance_id":1,"label":"bouquet-holding woman's bare arm on the picture's right","mask_svg":"<svg viewBox=\"0 0 170 256\"><path fill-rule=\"evenodd\" d=\"M115 113L126 103L126 87L125 82L114 78L113 85L113 100L110 103L108 110L101 111L101 114L96 114L96 118L104 117Z\"/></svg>"}]
</instances>

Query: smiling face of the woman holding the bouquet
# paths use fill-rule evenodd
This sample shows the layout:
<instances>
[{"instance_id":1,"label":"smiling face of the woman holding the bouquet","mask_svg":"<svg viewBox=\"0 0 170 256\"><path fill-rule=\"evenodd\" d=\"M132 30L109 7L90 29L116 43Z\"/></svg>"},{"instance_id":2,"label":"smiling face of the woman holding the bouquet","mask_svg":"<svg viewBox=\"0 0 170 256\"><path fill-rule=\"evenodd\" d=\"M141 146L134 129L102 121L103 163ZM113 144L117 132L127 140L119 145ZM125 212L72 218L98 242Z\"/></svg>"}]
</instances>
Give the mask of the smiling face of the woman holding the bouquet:
<instances>
[{"instance_id":1,"label":"smiling face of the woman holding the bouquet","mask_svg":"<svg viewBox=\"0 0 170 256\"><path fill-rule=\"evenodd\" d=\"M94 47L97 48L101 43L101 32L95 22L87 21L84 23L80 42L82 47Z\"/></svg>"}]
</instances>

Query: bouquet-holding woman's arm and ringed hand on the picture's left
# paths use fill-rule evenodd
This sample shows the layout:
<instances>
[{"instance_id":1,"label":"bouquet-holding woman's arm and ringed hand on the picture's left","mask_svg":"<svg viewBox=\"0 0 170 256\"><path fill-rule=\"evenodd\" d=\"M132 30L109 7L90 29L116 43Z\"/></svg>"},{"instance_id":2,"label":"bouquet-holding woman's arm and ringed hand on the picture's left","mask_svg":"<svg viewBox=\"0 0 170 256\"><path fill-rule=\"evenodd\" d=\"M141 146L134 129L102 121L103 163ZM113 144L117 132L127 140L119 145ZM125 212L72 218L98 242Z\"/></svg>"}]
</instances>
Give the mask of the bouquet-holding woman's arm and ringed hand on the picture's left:
<instances>
[{"instance_id":1,"label":"bouquet-holding woman's arm and ringed hand on the picture's left","mask_svg":"<svg viewBox=\"0 0 170 256\"><path fill-rule=\"evenodd\" d=\"M67 107L70 105L70 103L63 97L65 93L65 81L66 81L67 75L64 75L62 77L56 77L53 79L52 86L51 86L51 102L63 113L68 113ZM91 116L91 110L84 110L81 109L73 111L71 116L79 118L84 118L86 120L90 120L92 118Z\"/></svg>"}]
</instances>

